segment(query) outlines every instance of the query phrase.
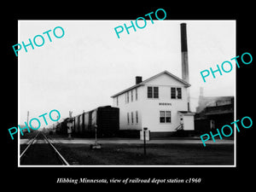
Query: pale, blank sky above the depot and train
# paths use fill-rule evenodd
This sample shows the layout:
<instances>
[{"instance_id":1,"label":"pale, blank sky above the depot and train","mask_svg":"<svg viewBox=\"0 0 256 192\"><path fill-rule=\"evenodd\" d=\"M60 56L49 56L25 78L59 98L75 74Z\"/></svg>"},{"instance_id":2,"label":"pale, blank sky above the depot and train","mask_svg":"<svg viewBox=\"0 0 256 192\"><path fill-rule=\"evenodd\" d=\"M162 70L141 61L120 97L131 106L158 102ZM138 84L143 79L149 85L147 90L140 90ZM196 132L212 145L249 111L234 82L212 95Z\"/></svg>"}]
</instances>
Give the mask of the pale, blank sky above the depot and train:
<instances>
[{"instance_id":1,"label":"pale, blank sky above the depot and train","mask_svg":"<svg viewBox=\"0 0 256 192\"><path fill-rule=\"evenodd\" d=\"M114 28L131 20L19 20L18 43L37 35L44 45L18 52L19 124L57 109L61 119L104 105L111 96L165 70L181 78L180 23L187 23L191 109L195 112L200 87L204 96L235 96L235 20L147 20L147 26L130 34ZM140 24L139 24L140 25ZM55 38L56 26L64 29ZM141 24L143 26L143 24ZM43 32L49 32L52 42ZM59 30L55 31L58 36ZM38 44L40 39L37 38ZM233 70L204 83L200 72L230 61ZM45 116L49 125L54 123ZM42 119L42 126L44 120ZM56 119L53 113L53 119Z\"/></svg>"}]
</instances>

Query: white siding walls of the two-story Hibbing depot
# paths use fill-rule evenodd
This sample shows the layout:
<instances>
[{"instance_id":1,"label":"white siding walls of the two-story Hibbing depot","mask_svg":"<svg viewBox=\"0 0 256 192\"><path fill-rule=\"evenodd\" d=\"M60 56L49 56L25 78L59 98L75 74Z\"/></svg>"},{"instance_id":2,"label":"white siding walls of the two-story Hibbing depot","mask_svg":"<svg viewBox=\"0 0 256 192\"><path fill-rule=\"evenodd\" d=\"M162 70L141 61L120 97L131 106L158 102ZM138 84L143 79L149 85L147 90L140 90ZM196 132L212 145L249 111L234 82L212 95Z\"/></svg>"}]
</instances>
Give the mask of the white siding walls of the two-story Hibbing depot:
<instances>
[{"instance_id":1,"label":"white siding walls of the two-story Hibbing depot","mask_svg":"<svg viewBox=\"0 0 256 192\"><path fill-rule=\"evenodd\" d=\"M159 87L159 98L148 98L148 86ZM182 89L182 99L171 98L171 87ZM126 93L113 98L113 107L119 108L120 130L142 130L148 127L151 132L175 131L180 124L178 111L188 110L187 88L176 79L167 74L162 74L156 79L152 79L137 87L137 100L135 89L133 90L133 102L131 102L131 90L129 91L129 102L125 102ZM164 103L160 105L160 103ZM165 103L167 103L165 105ZM138 124L136 123L136 111L138 112ZM171 123L160 123L160 111L171 111ZM131 124L131 112L133 112L134 123ZM129 113L130 123L127 124L127 113ZM192 128L191 128L192 129ZM193 126L194 129L194 126Z\"/></svg>"}]
</instances>

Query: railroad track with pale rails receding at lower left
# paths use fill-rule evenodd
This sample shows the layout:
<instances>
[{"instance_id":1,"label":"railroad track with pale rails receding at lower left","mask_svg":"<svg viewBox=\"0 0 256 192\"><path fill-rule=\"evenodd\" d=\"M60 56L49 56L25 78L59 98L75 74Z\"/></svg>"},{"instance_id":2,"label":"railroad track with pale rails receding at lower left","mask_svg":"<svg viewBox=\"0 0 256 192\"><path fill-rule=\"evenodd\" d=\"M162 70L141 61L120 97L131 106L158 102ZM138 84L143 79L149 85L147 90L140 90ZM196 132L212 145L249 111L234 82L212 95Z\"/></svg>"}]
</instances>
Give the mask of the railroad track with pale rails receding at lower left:
<instances>
[{"instance_id":1,"label":"railroad track with pale rails receding at lower left","mask_svg":"<svg viewBox=\"0 0 256 192\"><path fill-rule=\"evenodd\" d=\"M42 131L38 131L20 154L20 165L62 165L69 166Z\"/></svg>"}]
</instances>

